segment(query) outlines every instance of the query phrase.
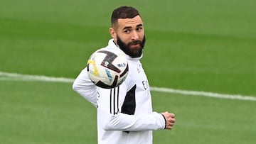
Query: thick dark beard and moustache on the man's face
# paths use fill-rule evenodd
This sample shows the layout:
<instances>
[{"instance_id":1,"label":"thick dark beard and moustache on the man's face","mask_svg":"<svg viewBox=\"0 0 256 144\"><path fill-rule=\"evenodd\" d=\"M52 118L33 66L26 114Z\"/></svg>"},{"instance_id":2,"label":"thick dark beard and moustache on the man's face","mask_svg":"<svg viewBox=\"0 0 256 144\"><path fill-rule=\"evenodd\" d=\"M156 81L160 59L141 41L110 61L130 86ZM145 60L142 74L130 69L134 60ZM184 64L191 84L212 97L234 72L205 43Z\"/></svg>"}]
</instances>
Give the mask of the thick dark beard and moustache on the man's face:
<instances>
[{"instance_id":1,"label":"thick dark beard and moustache on the man's face","mask_svg":"<svg viewBox=\"0 0 256 144\"><path fill-rule=\"evenodd\" d=\"M117 36L117 45L119 45L119 48L127 55L130 57L141 57L143 50L144 50L144 45L146 42L146 38L144 35L143 40L134 40L132 42L129 42L125 44L119 36ZM137 45L139 44L139 48L131 48L131 45Z\"/></svg>"}]
</instances>

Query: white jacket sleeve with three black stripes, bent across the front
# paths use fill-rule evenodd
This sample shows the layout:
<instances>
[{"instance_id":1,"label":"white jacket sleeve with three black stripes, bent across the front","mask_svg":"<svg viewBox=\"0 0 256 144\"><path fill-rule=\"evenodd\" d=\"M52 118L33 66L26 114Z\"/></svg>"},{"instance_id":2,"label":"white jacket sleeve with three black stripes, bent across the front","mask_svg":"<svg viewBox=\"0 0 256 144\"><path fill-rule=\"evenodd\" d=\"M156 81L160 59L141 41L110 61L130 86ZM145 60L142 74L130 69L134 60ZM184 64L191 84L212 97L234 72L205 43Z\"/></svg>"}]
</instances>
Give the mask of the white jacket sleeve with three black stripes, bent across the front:
<instances>
[{"instance_id":1,"label":"white jacket sleeve with three black stripes, bent across the front","mask_svg":"<svg viewBox=\"0 0 256 144\"><path fill-rule=\"evenodd\" d=\"M100 89L97 117L98 123L105 131L153 131L165 128L166 122L161 113L122 113L121 107L127 88L125 84L119 87L115 92L113 89Z\"/></svg>"}]
</instances>

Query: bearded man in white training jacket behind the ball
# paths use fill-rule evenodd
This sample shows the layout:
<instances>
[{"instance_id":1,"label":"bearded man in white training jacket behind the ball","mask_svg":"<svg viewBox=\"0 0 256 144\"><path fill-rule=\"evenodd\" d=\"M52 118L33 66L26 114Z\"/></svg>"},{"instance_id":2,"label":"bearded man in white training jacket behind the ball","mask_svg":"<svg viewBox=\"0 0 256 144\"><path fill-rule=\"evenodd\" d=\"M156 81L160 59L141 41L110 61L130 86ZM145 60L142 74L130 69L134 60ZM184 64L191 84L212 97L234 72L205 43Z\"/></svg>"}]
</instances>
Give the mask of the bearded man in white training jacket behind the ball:
<instances>
[{"instance_id":1,"label":"bearded man in white training jacket behind the ball","mask_svg":"<svg viewBox=\"0 0 256 144\"><path fill-rule=\"evenodd\" d=\"M120 6L113 11L111 23L112 39L103 49L121 49L127 55L127 79L119 87L102 89L90 81L85 68L73 89L97 108L99 144L151 144L152 131L171 129L175 116L152 111L149 82L139 61L146 40L139 12Z\"/></svg>"}]
</instances>

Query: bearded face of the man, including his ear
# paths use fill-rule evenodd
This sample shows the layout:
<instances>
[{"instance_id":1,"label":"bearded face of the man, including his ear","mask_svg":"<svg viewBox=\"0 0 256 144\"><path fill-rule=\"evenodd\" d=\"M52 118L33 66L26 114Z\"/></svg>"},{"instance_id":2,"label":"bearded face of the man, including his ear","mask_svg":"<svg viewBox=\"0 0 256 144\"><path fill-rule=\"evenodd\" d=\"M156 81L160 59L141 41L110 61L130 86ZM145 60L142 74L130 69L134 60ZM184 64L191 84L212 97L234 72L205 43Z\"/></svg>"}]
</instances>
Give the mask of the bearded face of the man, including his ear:
<instances>
[{"instance_id":1,"label":"bearded face of the man, including his ear","mask_svg":"<svg viewBox=\"0 0 256 144\"><path fill-rule=\"evenodd\" d=\"M142 18L119 18L116 28L110 28L114 41L127 55L140 57L145 43L144 26Z\"/></svg>"}]
</instances>

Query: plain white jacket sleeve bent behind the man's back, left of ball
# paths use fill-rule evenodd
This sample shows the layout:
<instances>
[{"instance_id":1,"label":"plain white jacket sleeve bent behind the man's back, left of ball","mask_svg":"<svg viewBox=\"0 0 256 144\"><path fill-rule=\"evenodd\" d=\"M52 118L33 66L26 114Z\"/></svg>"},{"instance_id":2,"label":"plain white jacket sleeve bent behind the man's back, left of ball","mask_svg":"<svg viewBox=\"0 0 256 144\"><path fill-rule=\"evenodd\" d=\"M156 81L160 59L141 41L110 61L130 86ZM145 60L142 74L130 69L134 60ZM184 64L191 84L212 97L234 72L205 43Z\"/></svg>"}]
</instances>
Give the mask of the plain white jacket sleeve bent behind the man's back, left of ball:
<instances>
[{"instance_id":1,"label":"plain white jacket sleeve bent behind the man's back, left of ball","mask_svg":"<svg viewBox=\"0 0 256 144\"><path fill-rule=\"evenodd\" d=\"M75 79L73 90L97 107L97 87L89 79L86 69L85 67Z\"/></svg>"}]
</instances>

